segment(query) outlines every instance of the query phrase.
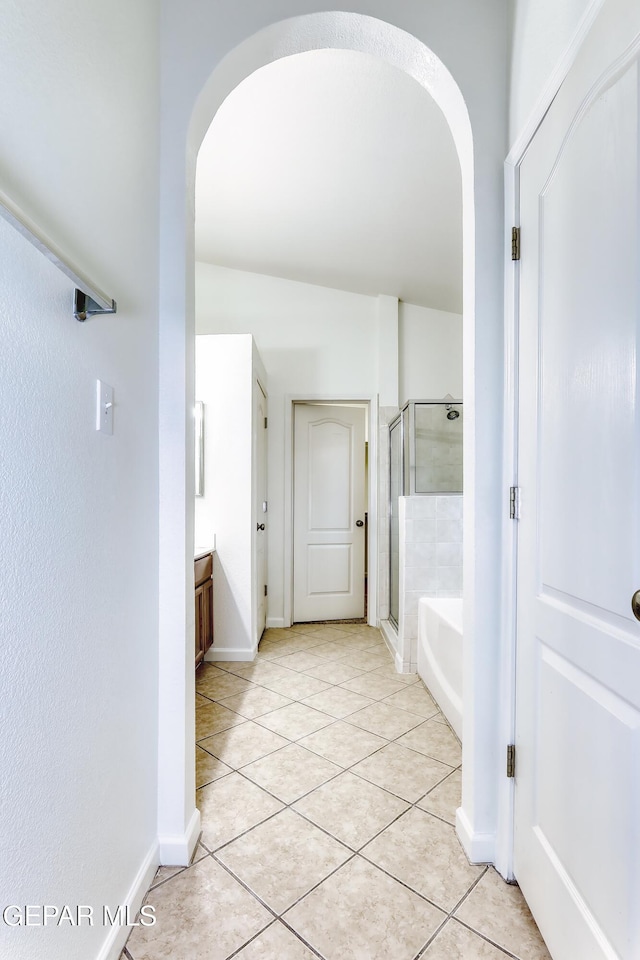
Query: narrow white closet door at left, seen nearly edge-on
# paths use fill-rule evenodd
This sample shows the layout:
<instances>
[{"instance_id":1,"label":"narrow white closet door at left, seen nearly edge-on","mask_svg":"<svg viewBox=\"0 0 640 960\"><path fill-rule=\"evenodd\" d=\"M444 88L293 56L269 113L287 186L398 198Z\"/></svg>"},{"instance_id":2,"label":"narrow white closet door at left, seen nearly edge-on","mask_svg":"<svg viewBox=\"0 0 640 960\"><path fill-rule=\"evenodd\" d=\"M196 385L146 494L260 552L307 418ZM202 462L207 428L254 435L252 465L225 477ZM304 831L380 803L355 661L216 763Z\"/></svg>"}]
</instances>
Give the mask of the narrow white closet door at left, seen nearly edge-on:
<instances>
[{"instance_id":1,"label":"narrow white closet door at left, seen nearly edge-on","mask_svg":"<svg viewBox=\"0 0 640 960\"><path fill-rule=\"evenodd\" d=\"M255 498L254 515L254 588L256 607L256 642L267 621L267 398L258 380L253 385Z\"/></svg>"}]
</instances>

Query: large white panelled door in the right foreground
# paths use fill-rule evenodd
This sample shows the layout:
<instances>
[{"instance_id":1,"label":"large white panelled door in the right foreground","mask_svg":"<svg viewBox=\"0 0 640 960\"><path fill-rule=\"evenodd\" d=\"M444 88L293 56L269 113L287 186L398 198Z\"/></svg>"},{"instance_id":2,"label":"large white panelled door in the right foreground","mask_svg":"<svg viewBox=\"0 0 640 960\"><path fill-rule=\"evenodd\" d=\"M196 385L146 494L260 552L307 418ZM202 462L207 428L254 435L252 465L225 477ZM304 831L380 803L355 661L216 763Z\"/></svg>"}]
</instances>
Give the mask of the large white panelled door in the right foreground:
<instances>
[{"instance_id":1,"label":"large white panelled door in the right foreground","mask_svg":"<svg viewBox=\"0 0 640 960\"><path fill-rule=\"evenodd\" d=\"M514 868L554 960L640 957L639 34L606 0L521 169Z\"/></svg>"}]
</instances>

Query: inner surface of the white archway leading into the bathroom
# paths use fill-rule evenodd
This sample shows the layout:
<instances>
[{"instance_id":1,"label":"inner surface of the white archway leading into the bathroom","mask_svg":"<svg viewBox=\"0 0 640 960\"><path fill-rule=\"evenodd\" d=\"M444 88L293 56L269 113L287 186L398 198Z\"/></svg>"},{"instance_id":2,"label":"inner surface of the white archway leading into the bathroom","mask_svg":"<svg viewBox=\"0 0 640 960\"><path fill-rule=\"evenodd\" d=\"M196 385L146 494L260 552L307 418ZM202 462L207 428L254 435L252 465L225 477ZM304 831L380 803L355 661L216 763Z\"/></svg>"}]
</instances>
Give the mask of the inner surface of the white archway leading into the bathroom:
<instances>
[{"instance_id":1,"label":"inner surface of the white archway leading into the bathroom","mask_svg":"<svg viewBox=\"0 0 640 960\"><path fill-rule=\"evenodd\" d=\"M190 401L193 397L193 197L197 151L220 104L245 77L282 57L317 49L353 50L379 57L416 80L442 110L456 146L463 196L463 314L467 443L465 464L465 582L475 583L475 200L471 123L467 107L443 62L411 34L359 14L317 13L274 23L240 42L224 56L201 89L190 120L183 118L184 140L163 144L160 323L160 723L159 836L165 863L184 863L198 835L193 770L193 626L189 573L193 544L191 490L193 443ZM212 63L215 54L211 55ZM171 112L171 111L169 111ZM169 125L170 126L170 125ZM186 150L183 150L186 142ZM166 369L163 372L163 366ZM189 410L187 409L189 408ZM186 459L184 451L186 451ZM471 603L470 591L467 604ZM187 642L187 637L189 642ZM472 625L466 631L472 651ZM473 662L470 660L470 666ZM471 675L469 669L467 675ZM490 690L486 697L490 698ZM477 701L483 709L482 697ZM475 709L475 707L474 707ZM469 723L473 723L471 714ZM470 768L469 776L475 770ZM486 775L485 775L486 776ZM491 793L487 787L485 793ZM483 798L484 799L484 798ZM460 828L460 824L459 824ZM462 823L467 852L474 856L477 828ZM482 843L482 841L481 841ZM486 847L476 849L477 856Z\"/></svg>"}]
</instances>

